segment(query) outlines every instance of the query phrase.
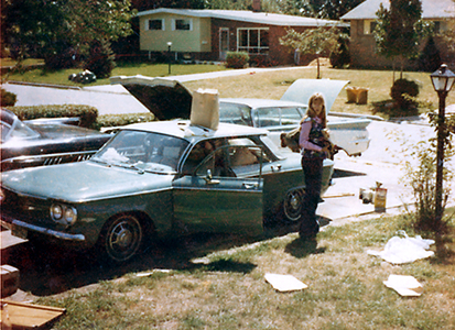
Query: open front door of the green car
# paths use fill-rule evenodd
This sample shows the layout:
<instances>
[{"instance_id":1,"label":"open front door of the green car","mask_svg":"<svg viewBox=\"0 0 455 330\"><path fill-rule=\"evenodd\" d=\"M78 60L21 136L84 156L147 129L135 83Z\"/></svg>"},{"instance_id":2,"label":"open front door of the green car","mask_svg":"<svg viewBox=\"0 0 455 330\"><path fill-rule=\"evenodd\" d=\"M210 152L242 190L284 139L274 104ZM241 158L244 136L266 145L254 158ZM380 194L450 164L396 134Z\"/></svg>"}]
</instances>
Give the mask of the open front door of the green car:
<instances>
[{"instance_id":1,"label":"open front door of the green car","mask_svg":"<svg viewBox=\"0 0 455 330\"><path fill-rule=\"evenodd\" d=\"M188 232L249 235L262 232L262 151L257 146L242 148L252 148L259 154L256 170L252 168L254 165L249 164L248 176L236 175L231 168L234 147L225 145L205 157L193 174L173 182L177 228Z\"/></svg>"}]
</instances>

